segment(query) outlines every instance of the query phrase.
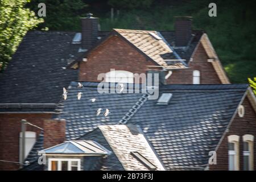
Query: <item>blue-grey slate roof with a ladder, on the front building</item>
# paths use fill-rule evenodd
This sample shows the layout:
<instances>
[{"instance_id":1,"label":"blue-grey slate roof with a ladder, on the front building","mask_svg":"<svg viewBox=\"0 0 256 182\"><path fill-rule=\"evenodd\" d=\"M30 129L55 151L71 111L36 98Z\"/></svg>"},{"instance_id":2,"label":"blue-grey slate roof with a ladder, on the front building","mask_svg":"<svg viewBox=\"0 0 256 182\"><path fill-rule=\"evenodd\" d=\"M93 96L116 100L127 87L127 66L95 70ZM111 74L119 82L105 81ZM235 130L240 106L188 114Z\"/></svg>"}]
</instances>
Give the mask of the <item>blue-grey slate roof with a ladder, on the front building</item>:
<instances>
[{"instance_id":1,"label":"blue-grey slate roof with a ladder, on the front building","mask_svg":"<svg viewBox=\"0 0 256 182\"><path fill-rule=\"evenodd\" d=\"M113 151L111 144L104 144L108 137L97 137L99 133L104 135L98 126L117 125L143 94L100 94L97 92L98 83L81 83L84 85L82 88L77 88L77 82L71 83L68 99L61 101L63 111L55 118L66 119L68 140L92 139ZM156 105L157 100L147 100L127 125L141 127L167 170L204 169L208 164L209 151L216 148L247 88L246 84L162 85L159 96L172 93L170 104ZM77 92L82 92L81 100L77 100ZM91 98L96 98L96 102L91 104ZM103 113L96 116L95 111L100 107L102 110L108 108L110 114L107 117ZM116 138L112 139L117 142ZM118 157L113 155L104 160L113 161L113 158ZM109 169L108 163L104 165ZM122 162L115 165L117 169Z\"/></svg>"}]
</instances>

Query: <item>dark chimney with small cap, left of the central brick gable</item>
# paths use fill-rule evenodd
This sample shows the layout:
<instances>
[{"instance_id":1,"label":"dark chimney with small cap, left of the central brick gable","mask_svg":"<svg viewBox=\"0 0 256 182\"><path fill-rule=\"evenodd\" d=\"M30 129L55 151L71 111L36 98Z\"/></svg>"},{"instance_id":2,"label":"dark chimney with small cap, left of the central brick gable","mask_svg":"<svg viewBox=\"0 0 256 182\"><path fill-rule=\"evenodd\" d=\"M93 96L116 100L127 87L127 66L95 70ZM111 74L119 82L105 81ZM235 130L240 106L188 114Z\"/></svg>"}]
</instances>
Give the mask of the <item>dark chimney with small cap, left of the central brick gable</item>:
<instances>
[{"instance_id":1,"label":"dark chimney with small cap, left of the central brick gable","mask_svg":"<svg viewBox=\"0 0 256 182\"><path fill-rule=\"evenodd\" d=\"M87 14L86 18L81 18L82 23L82 48L89 49L96 42L98 37L98 18L93 14Z\"/></svg>"}]
</instances>

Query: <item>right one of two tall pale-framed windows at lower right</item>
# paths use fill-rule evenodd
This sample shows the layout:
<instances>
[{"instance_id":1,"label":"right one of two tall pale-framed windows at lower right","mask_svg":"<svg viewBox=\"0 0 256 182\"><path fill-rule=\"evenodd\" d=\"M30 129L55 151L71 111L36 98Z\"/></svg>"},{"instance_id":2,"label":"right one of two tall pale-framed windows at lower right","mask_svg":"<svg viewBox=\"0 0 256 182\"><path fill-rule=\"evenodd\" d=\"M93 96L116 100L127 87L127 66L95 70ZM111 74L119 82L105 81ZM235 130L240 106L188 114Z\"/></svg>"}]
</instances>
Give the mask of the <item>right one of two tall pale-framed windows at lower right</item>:
<instances>
[{"instance_id":1,"label":"right one of two tall pale-framed windows at lower right","mask_svg":"<svg viewBox=\"0 0 256 182\"><path fill-rule=\"evenodd\" d=\"M249 151L244 151L245 149L243 148L243 156L249 156L249 171L254 170L254 151L253 151L253 142L254 142L254 136L253 135L243 135L243 142L248 143L248 148ZM245 161L243 158L243 170L245 170Z\"/></svg>"}]
</instances>

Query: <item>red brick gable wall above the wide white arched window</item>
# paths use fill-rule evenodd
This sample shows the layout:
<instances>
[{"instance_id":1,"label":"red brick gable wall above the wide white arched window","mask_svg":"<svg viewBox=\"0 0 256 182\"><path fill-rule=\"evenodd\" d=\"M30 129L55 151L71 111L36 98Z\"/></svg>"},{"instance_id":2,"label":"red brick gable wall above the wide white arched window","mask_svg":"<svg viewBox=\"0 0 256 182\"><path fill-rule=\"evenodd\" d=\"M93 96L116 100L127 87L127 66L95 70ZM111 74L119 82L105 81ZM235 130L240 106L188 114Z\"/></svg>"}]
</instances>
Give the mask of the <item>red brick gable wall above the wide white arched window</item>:
<instances>
[{"instance_id":1,"label":"red brick gable wall above the wide white arched window","mask_svg":"<svg viewBox=\"0 0 256 182\"><path fill-rule=\"evenodd\" d=\"M79 81L96 81L100 73L110 69L146 73L147 65L155 65L134 47L118 36L112 36L90 55L87 62L80 63Z\"/></svg>"}]
</instances>

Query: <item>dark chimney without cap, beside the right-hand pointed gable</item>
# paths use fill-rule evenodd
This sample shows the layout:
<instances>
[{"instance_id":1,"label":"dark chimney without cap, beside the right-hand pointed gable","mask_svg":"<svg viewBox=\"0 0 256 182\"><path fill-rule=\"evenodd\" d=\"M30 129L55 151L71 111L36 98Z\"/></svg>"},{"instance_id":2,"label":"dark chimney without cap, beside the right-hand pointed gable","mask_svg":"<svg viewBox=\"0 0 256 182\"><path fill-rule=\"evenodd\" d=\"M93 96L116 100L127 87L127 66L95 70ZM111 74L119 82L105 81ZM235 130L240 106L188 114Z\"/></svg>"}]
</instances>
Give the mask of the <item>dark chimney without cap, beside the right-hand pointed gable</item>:
<instances>
[{"instance_id":1,"label":"dark chimney without cap, beside the right-hand pointed gable","mask_svg":"<svg viewBox=\"0 0 256 182\"><path fill-rule=\"evenodd\" d=\"M175 47L187 46L192 37L192 17L175 16Z\"/></svg>"}]
</instances>

